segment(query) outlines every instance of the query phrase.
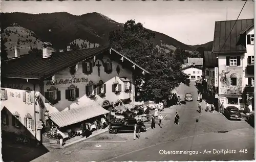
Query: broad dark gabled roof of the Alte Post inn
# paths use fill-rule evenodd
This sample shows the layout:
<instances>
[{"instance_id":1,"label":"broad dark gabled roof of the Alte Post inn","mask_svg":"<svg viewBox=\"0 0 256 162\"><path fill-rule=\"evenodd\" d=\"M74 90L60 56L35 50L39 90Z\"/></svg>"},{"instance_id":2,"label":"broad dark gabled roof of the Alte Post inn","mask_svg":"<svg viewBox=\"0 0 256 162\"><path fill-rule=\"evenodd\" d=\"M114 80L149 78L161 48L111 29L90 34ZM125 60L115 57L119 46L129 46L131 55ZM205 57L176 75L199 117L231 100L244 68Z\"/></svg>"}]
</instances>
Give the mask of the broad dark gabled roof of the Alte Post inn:
<instances>
[{"instance_id":1,"label":"broad dark gabled roof of the Alte Post inn","mask_svg":"<svg viewBox=\"0 0 256 162\"><path fill-rule=\"evenodd\" d=\"M1 75L6 78L45 79L83 60L102 53L109 54L110 50L113 51L113 53L120 55L120 57L123 57L131 64L134 64L143 72L149 74L149 72L144 70L144 68L140 67L138 64L113 48L100 47L77 51L56 52L50 58L42 58L33 54L24 55L19 58L2 62Z\"/></svg>"}]
</instances>

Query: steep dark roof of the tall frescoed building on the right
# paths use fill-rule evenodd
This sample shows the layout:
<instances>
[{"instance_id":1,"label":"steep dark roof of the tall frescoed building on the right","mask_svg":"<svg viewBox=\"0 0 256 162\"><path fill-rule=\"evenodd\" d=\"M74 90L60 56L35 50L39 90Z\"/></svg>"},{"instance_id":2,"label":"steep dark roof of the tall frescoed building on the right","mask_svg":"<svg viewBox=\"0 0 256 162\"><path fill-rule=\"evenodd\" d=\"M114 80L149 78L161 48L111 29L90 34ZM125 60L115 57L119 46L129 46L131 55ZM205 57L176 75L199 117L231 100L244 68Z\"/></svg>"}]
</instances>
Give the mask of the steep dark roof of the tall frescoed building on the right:
<instances>
[{"instance_id":1,"label":"steep dark roof of the tall frescoed building on the right","mask_svg":"<svg viewBox=\"0 0 256 162\"><path fill-rule=\"evenodd\" d=\"M216 21L212 52L216 54L245 53L246 48L239 43L240 33L250 27L253 23L254 19ZM234 28L232 29L233 26Z\"/></svg>"}]
</instances>

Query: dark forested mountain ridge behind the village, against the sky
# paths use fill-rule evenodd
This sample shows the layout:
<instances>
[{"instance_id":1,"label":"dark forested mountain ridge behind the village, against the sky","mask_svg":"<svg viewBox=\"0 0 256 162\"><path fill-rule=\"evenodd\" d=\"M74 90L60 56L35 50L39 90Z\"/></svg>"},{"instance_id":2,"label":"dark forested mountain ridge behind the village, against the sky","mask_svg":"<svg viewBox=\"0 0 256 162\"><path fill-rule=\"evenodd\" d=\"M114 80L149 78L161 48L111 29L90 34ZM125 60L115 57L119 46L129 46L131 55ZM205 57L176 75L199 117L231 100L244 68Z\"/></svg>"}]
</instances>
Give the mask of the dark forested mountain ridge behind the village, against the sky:
<instances>
[{"instance_id":1,"label":"dark forested mountain ridge behind the village, against the sky","mask_svg":"<svg viewBox=\"0 0 256 162\"><path fill-rule=\"evenodd\" d=\"M28 14L1 13L1 29L10 27L14 22L21 27L33 31L42 41L49 41L56 49L65 49L66 45L76 39L88 40L101 46L108 44L109 33L122 29L120 24L102 14L93 12L76 16L67 12ZM172 37L155 32L156 44L167 44L192 51L193 47Z\"/></svg>"}]
</instances>

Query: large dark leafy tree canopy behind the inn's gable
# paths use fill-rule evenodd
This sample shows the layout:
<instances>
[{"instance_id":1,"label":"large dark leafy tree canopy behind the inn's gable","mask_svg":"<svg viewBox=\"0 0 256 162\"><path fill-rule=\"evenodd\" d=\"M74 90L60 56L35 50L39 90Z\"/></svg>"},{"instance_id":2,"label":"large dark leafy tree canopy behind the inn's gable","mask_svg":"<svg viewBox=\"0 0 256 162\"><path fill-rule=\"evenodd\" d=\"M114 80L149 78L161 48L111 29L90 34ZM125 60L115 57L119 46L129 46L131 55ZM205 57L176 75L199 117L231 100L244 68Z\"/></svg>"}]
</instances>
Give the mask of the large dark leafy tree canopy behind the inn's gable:
<instances>
[{"instance_id":1,"label":"large dark leafy tree canopy behind the inn's gable","mask_svg":"<svg viewBox=\"0 0 256 162\"><path fill-rule=\"evenodd\" d=\"M161 53L153 43L155 34L143 28L134 20L128 20L123 30L110 33L110 45L117 51L138 63L150 75L136 76L135 84L138 88L142 81L144 97L148 100L167 98L170 92L182 82L189 85L188 76L181 69L181 63L169 54Z\"/></svg>"}]
</instances>

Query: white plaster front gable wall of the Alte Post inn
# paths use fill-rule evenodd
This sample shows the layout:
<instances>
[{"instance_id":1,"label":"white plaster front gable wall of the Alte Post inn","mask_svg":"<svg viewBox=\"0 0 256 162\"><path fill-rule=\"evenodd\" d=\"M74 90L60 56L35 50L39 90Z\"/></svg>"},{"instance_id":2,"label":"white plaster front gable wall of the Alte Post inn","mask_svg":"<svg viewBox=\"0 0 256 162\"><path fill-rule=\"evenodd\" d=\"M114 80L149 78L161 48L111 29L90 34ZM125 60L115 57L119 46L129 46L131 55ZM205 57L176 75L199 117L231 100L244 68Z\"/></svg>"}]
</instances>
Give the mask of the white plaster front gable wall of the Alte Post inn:
<instances>
[{"instance_id":1,"label":"white plaster front gable wall of the Alte Post inn","mask_svg":"<svg viewBox=\"0 0 256 162\"><path fill-rule=\"evenodd\" d=\"M106 61L108 58L104 57L103 61ZM90 61L93 61L92 59ZM134 86L134 80L133 80L133 74L130 70L127 70L125 67L122 67L121 64L118 64L117 62L113 61L112 62L112 69L113 72L111 74L106 74L104 72L104 66L102 65L101 60L97 60L96 58L96 63L101 64L100 66L100 76L98 76L98 67L93 66L93 73L91 75L85 75L82 73L82 63L78 63L78 70L76 72L76 75L74 78L86 78L87 82L80 82L80 83L73 83L73 85L77 86L79 88L79 98L77 101L68 101L66 100L66 89L71 84L62 84L62 85L54 85L54 87L58 88L58 90L61 91L61 100L54 105L50 105L49 103L46 103L47 109L49 112L56 112L56 111L62 111L62 110L68 110L72 108L78 108L83 105L87 105L90 102L96 102L98 104L101 104L104 100L109 100L110 102L115 103L118 99L124 99L127 98L127 95L124 92L124 84L122 84L122 91L120 92L120 95L116 95L114 92L112 92L112 84L115 80L115 77L117 76L117 79L119 80L118 77L126 77L128 78L132 83L132 90L131 90L131 100L134 101L135 97L135 86ZM116 67L119 65L120 67L120 73L119 75L116 72ZM66 70L63 70L57 74L55 74L55 80L58 79L72 79L72 76L70 75L69 68ZM105 97L99 97L96 95L95 99L90 99L86 96L86 85L89 83L89 81L93 81L93 83L97 84L100 80L103 81L104 84L106 84L106 94ZM121 80L119 80L121 81ZM46 81L45 81L46 83ZM47 91L51 85L46 85L44 86L44 90ZM129 95L130 96L130 95ZM129 98L129 97L128 97Z\"/></svg>"}]
</instances>

